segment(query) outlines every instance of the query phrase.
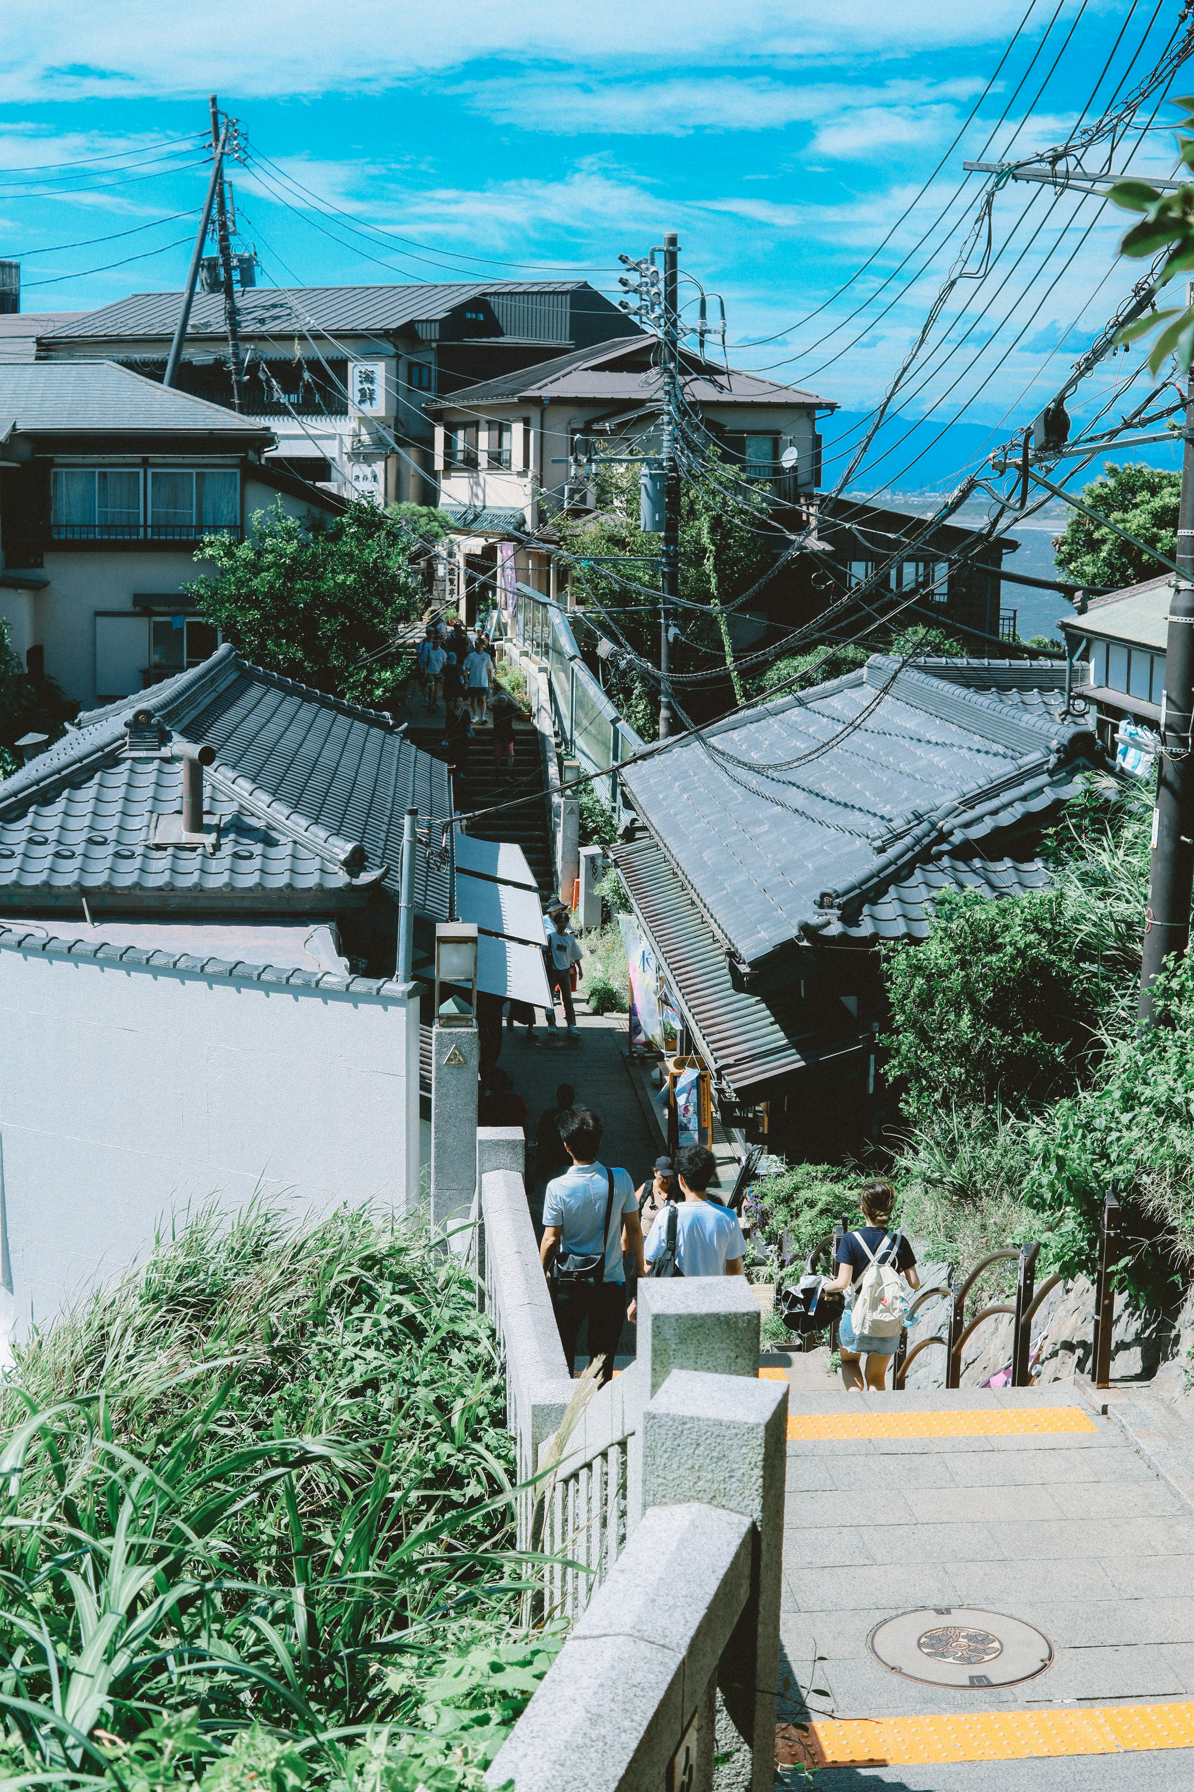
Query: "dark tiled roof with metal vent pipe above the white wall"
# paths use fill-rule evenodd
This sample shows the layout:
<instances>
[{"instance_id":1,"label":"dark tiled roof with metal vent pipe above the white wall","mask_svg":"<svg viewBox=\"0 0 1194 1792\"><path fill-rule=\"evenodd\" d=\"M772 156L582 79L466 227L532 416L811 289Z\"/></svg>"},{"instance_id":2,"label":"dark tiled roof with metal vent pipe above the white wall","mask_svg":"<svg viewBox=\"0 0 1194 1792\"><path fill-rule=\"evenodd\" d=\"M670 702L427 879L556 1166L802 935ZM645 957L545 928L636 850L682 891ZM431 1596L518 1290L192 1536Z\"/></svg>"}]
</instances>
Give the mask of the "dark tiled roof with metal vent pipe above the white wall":
<instances>
[{"instance_id":1,"label":"dark tiled roof with metal vent pipe above the white wall","mask_svg":"<svg viewBox=\"0 0 1194 1792\"><path fill-rule=\"evenodd\" d=\"M152 817L181 808L181 765L145 753L129 724L149 711L170 735L215 749L206 808L220 846L156 846ZM249 665L233 647L79 717L79 726L0 785L0 901L29 892L202 892L240 901L260 892L397 891L403 815L451 812L448 771L390 726L390 717ZM311 898L313 900L313 898ZM448 869L419 853L415 905L448 918Z\"/></svg>"}]
</instances>

